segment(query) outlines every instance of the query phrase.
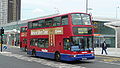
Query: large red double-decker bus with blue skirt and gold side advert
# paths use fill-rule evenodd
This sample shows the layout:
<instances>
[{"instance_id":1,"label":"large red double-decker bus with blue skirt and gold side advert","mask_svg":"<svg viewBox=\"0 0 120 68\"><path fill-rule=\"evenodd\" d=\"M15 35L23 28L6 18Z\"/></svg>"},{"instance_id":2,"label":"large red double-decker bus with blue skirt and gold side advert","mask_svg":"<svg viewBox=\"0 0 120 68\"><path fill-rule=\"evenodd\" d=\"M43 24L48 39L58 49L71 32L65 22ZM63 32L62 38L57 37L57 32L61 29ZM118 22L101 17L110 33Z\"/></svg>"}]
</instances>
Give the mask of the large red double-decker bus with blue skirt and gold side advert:
<instances>
[{"instance_id":1,"label":"large red double-decker bus with blue skirt and gold side advert","mask_svg":"<svg viewBox=\"0 0 120 68\"><path fill-rule=\"evenodd\" d=\"M33 56L75 61L94 59L91 16L74 12L28 22L28 50Z\"/></svg>"}]
</instances>

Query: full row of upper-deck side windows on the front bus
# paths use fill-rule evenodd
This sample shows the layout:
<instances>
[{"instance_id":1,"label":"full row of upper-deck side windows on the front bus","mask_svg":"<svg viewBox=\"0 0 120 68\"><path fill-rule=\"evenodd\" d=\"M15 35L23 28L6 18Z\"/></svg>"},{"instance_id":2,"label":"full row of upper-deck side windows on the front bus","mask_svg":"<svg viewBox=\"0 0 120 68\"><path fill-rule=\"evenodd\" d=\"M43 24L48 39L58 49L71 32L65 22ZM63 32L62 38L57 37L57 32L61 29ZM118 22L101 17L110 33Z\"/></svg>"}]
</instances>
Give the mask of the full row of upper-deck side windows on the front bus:
<instances>
[{"instance_id":1,"label":"full row of upper-deck side windows on the front bus","mask_svg":"<svg viewBox=\"0 0 120 68\"><path fill-rule=\"evenodd\" d=\"M68 25L68 15L28 22L28 29Z\"/></svg>"}]
</instances>

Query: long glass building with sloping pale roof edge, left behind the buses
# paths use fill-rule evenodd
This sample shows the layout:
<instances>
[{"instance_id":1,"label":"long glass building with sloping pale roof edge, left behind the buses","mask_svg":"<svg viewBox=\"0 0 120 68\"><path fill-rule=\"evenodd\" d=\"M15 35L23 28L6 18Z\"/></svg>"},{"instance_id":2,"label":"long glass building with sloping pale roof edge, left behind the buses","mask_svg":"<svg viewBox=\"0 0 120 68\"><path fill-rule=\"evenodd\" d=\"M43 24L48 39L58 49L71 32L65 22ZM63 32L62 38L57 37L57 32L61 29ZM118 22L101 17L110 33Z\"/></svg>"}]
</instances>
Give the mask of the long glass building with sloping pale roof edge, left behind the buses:
<instances>
[{"instance_id":1,"label":"long glass building with sloping pale roof edge, left behind the buses","mask_svg":"<svg viewBox=\"0 0 120 68\"><path fill-rule=\"evenodd\" d=\"M27 22L30 20L34 19L39 19L39 18L44 18L44 17L50 17L50 16L55 16L58 14L52 14L52 15L47 15L47 16L42 16L38 18L33 18L33 19L28 19L28 20L22 20L22 21L15 21L11 22L5 25L0 25L0 27L3 27L5 30L5 35L4 35L4 44L12 45L12 42L14 40L18 41L19 40L19 34L20 34L20 27L21 26L27 26Z\"/></svg>"}]
</instances>

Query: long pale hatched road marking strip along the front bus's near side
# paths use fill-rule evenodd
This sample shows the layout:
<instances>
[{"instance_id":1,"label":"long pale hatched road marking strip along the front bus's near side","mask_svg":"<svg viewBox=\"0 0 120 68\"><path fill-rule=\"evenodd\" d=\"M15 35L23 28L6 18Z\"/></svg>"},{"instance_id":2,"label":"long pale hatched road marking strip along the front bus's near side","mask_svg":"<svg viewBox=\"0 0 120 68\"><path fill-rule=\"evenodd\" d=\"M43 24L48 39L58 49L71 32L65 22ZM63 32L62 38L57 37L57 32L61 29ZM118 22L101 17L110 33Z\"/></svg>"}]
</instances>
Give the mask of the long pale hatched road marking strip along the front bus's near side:
<instances>
[{"instance_id":1,"label":"long pale hatched road marking strip along the front bus's near side","mask_svg":"<svg viewBox=\"0 0 120 68\"><path fill-rule=\"evenodd\" d=\"M29 56L24 56L24 55L19 55L19 54L13 54L11 52L0 52L1 55L4 56L9 56L9 57L15 57L20 60L25 60L29 62L37 62L43 65L51 66L51 67L57 67L57 68L86 68L78 65L72 65L72 64L67 64L67 63L61 63L57 61L49 61L46 59L40 59L40 58L34 58L34 57L29 57Z\"/></svg>"}]
</instances>

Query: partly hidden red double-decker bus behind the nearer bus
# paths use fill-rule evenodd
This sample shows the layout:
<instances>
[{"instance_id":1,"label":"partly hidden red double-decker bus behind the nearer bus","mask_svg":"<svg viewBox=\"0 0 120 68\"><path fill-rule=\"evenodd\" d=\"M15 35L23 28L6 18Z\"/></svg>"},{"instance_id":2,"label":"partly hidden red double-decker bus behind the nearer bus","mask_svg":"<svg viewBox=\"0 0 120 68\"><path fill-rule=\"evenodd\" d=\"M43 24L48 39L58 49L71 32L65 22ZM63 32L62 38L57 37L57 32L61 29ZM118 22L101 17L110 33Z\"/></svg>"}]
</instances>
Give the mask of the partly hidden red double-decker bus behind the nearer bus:
<instances>
[{"instance_id":1,"label":"partly hidden red double-decker bus behind the nearer bus","mask_svg":"<svg viewBox=\"0 0 120 68\"><path fill-rule=\"evenodd\" d=\"M27 50L27 26L20 28L20 49Z\"/></svg>"}]
</instances>

